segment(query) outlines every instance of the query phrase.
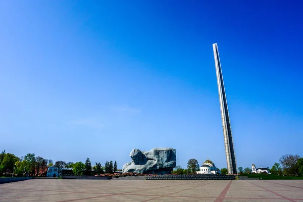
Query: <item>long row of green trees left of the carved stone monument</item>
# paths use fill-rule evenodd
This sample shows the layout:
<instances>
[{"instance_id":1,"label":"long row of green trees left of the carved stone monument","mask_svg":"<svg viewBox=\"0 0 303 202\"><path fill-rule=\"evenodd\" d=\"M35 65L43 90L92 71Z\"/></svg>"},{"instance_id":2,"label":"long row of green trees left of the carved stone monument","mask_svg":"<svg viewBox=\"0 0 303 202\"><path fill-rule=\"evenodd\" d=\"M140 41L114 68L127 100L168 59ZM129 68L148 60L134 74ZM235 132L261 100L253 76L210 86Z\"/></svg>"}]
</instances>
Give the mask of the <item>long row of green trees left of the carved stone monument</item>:
<instances>
[{"instance_id":1,"label":"long row of green trees left of the carved stone monument","mask_svg":"<svg viewBox=\"0 0 303 202\"><path fill-rule=\"evenodd\" d=\"M6 153L5 150L0 154L0 176L23 176L24 173L29 173L32 176L38 176L39 171L46 167L72 168L74 175L99 175L103 173L117 172L117 162L106 162L105 166L100 163L95 163L91 166L89 158L86 159L85 164L82 162L68 162L57 161L54 164L52 159L44 159L35 154L27 154L24 157L17 157L14 154Z\"/></svg>"}]
</instances>

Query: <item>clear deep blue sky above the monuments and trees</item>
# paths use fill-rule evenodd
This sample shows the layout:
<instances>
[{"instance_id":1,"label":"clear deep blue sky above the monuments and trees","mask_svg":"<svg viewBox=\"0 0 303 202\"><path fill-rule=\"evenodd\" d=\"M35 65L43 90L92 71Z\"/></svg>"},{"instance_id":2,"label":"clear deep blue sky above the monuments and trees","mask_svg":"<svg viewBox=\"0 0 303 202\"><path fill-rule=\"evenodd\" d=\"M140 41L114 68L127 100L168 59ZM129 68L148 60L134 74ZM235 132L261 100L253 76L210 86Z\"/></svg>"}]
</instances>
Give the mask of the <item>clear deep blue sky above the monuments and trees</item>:
<instances>
[{"instance_id":1,"label":"clear deep blue sky above the monuments and trees","mask_svg":"<svg viewBox=\"0 0 303 202\"><path fill-rule=\"evenodd\" d=\"M1 1L0 150L92 164L173 147L226 167L303 156L299 1Z\"/></svg>"}]
</instances>

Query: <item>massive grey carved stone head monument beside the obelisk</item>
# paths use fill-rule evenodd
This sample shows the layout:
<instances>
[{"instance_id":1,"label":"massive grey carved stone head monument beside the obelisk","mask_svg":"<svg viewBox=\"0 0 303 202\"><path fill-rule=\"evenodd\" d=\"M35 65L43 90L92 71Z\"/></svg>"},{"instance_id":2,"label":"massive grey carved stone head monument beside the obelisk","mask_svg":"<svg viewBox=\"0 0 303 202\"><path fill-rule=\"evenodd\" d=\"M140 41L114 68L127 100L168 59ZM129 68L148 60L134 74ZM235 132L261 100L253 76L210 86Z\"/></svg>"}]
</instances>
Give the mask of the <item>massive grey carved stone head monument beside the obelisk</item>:
<instances>
[{"instance_id":1,"label":"massive grey carved stone head monument beside the obelisk","mask_svg":"<svg viewBox=\"0 0 303 202\"><path fill-rule=\"evenodd\" d=\"M144 174L170 174L176 167L176 149L159 147L150 151L134 148L130 152L131 162L124 164L123 172Z\"/></svg>"}]
</instances>

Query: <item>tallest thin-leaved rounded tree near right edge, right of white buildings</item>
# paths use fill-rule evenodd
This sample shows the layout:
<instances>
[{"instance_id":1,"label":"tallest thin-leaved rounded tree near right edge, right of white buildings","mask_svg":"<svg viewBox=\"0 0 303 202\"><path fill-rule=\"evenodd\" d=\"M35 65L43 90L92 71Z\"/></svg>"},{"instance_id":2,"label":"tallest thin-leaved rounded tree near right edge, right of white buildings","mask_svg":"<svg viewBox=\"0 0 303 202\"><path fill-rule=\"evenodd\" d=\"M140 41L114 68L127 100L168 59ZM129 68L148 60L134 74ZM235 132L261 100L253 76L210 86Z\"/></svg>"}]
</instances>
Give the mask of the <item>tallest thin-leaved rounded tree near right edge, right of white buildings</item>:
<instances>
[{"instance_id":1,"label":"tallest thin-leaved rounded tree near right edge, right of white buildings","mask_svg":"<svg viewBox=\"0 0 303 202\"><path fill-rule=\"evenodd\" d=\"M283 155L279 162L283 166L283 169L286 170L288 175L298 176L299 168L297 161L300 159L298 155Z\"/></svg>"}]
</instances>

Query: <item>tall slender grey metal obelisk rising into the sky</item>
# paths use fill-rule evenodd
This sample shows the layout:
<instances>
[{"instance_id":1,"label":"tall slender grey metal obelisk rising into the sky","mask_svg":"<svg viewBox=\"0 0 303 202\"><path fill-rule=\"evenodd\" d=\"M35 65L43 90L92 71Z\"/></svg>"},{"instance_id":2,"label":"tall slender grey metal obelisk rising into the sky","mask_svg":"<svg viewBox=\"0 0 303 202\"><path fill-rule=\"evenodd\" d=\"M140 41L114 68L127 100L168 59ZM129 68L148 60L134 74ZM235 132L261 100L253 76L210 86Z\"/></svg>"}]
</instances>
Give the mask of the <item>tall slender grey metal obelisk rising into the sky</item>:
<instances>
[{"instance_id":1,"label":"tall slender grey metal obelisk rising into the sky","mask_svg":"<svg viewBox=\"0 0 303 202\"><path fill-rule=\"evenodd\" d=\"M228 170L228 174L236 174L237 173L236 156L235 156L235 150L234 150L233 139L231 134L227 100L225 95L225 88L224 88L217 43L213 44L213 49L214 49L214 57L215 57L215 65L216 65L216 73L217 73L217 83L218 83L221 118L223 125L227 170Z\"/></svg>"}]
</instances>

